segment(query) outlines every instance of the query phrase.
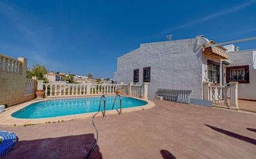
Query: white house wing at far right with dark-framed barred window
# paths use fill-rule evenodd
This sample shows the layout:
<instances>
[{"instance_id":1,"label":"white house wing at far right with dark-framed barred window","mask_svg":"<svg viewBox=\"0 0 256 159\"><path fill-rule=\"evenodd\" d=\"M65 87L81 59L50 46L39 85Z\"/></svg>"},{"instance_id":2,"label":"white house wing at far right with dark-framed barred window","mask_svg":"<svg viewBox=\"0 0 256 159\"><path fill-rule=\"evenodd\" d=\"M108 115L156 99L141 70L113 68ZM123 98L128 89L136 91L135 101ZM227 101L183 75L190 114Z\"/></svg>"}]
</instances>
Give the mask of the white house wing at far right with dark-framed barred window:
<instances>
[{"instance_id":1,"label":"white house wing at far right with dark-framed barred window","mask_svg":"<svg viewBox=\"0 0 256 159\"><path fill-rule=\"evenodd\" d=\"M227 48L229 66L226 67L225 84L230 80L239 82L238 97L256 100L256 49L235 50L234 45ZM233 79L232 79L233 78Z\"/></svg>"}]
</instances>

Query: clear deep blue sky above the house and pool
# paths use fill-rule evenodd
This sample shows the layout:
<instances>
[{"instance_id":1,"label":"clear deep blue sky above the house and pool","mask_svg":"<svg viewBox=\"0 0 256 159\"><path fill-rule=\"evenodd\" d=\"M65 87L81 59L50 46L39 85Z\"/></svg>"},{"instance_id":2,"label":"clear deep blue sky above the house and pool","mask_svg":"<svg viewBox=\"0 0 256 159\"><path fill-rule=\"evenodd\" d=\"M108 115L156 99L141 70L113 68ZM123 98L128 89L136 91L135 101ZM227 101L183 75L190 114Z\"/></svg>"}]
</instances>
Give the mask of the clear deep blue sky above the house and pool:
<instances>
[{"instance_id":1,"label":"clear deep blue sky above the house and pool","mask_svg":"<svg viewBox=\"0 0 256 159\"><path fill-rule=\"evenodd\" d=\"M112 77L116 59L140 43L256 36L250 1L0 1L0 53L49 71ZM256 41L237 44L255 49Z\"/></svg>"}]
</instances>

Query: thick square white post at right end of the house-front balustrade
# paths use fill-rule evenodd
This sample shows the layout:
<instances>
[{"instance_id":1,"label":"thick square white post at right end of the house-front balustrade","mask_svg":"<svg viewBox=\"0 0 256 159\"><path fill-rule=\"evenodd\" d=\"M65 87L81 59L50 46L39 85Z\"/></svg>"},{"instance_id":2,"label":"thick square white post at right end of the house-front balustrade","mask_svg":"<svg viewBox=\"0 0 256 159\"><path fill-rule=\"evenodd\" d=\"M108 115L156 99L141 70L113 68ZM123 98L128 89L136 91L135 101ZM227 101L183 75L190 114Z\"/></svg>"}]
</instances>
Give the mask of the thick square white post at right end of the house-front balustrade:
<instances>
[{"instance_id":1,"label":"thick square white post at right end of the house-front balustrade","mask_svg":"<svg viewBox=\"0 0 256 159\"><path fill-rule=\"evenodd\" d=\"M230 97L231 106L229 108L237 110L238 109L238 82L229 82L230 85Z\"/></svg>"}]
</instances>

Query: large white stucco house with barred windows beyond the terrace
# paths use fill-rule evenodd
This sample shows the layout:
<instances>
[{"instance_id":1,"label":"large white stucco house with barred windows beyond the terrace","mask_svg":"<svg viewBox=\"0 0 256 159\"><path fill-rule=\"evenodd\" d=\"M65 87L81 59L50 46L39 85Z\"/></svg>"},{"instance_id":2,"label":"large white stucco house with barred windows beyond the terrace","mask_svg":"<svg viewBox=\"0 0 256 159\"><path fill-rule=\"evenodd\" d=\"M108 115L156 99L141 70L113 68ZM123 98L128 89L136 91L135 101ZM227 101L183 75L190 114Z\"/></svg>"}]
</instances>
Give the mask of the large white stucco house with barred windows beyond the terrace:
<instances>
[{"instance_id":1,"label":"large white stucco house with barred windows beyond the terrace","mask_svg":"<svg viewBox=\"0 0 256 159\"><path fill-rule=\"evenodd\" d=\"M149 82L149 98L155 97L158 88L192 90L191 103L203 100L203 82L224 85L227 82L239 83L239 89L253 92L256 86L256 70L253 68L253 52L234 51L214 44L203 36L184 40L160 41L144 43L139 48L117 58L117 71L114 72L116 82ZM247 53L248 52L248 53ZM236 56L239 54L239 56ZM251 55L250 55L251 54ZM229 56L231 58L229 58ZM247 59L240 61L239 58ZM226 67L229 67L226 70ZM231 67L232 66L232 67ZM238 72L244 77L227 77L226 71L234 75L233 66L249 66L250 83L247 83L247 67L245 72ZM246 69L246 70L245 70ZM241 75L243 74L243 75ZM252 86L253 85L253 86ZM250 95L249 95L250 94ZM239 93L240 98L256 100L256 95Z\"/></svg>"}]
</instances>

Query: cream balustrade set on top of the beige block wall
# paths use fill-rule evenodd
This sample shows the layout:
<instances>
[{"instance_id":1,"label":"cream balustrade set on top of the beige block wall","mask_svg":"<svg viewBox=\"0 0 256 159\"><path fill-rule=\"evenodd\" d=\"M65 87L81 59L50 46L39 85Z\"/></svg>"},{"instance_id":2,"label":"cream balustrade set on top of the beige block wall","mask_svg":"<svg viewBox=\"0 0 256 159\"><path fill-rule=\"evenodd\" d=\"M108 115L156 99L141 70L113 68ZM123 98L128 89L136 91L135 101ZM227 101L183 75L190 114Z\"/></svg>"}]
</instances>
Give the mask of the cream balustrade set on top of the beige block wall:
<instances>
[{"instance_id":1,"label":"cream balustrade set on top of the beige block wall","mask_svg":"<svg viewBox=\"0 0 256 159\"><path fill-rule=\"evenodd\" d=\"M21 61L0 54L0 71L12 74L21 74L21 65Z\"/></svg>"}]
</instances>

